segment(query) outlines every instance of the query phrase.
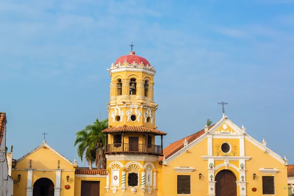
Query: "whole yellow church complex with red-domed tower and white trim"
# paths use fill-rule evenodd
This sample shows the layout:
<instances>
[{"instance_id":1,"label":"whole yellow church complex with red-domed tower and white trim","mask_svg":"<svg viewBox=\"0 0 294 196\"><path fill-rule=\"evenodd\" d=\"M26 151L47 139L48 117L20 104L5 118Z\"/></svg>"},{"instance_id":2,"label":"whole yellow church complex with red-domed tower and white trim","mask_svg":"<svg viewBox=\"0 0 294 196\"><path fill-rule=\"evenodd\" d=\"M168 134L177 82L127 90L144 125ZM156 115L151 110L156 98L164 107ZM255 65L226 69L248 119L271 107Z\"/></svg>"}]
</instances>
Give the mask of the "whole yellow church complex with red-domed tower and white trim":
<instances>
[{"instance_id":1,"label":"whole yellow church complex with red-domed tower and white trim","mask_svg":"<svg viewBox=\"0 0 294 196\"><path fill-rule=\"evenodd\" d=\"M155 68L131 51L108 70L107 169L80 168L46 141L17 160L15 196L288 195L287 159L225 116L163 149L155 125ZM222 102L222 104L224 104ZM74 150L74 148L73 148Z\"/></svg>"}]
</instances>

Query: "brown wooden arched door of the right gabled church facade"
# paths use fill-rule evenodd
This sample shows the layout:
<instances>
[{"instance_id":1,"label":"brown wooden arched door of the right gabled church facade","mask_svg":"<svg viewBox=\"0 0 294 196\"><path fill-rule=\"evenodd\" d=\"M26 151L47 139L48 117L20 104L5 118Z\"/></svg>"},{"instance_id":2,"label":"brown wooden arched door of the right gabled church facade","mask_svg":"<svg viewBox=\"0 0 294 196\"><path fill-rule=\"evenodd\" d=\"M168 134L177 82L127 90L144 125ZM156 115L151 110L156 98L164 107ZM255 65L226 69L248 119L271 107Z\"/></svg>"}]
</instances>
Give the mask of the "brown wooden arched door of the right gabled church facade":
<instances>
[{"instance_id":1,"label":"brown wooden arched door of the right gabled church facade","mask_svg":"<svg viewBox=\"0 0 294 196\"><path fill-rule=\"evenodd\" d=\"M216 175L216 196L237 196L236 176L229 170L221 170Z\"/></svg>"}]
</instances>

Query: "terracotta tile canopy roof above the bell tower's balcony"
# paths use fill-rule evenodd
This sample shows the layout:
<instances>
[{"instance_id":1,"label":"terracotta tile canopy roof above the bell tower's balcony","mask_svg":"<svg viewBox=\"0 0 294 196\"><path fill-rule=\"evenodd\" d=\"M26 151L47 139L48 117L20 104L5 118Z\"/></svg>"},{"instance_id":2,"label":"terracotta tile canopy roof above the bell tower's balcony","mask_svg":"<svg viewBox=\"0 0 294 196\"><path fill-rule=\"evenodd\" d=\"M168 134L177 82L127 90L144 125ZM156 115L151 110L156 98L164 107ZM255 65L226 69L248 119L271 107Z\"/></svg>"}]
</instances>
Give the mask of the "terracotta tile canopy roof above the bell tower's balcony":
<instances>
[{"instance_id":1,"label":"terracotta tile canopy roof above the bell tower's balcony","mask_svg":"<svg viewBox=\"0 0 294 196\"><path fill-rule=\"evenodd\" d=\"M167 133L160 130L149 128L145 126L114 126L108 127L102 133L116 133L116 132L141 132L141 133L154 133L157 135L167 135Z\"/></svg>"}]
</instances>

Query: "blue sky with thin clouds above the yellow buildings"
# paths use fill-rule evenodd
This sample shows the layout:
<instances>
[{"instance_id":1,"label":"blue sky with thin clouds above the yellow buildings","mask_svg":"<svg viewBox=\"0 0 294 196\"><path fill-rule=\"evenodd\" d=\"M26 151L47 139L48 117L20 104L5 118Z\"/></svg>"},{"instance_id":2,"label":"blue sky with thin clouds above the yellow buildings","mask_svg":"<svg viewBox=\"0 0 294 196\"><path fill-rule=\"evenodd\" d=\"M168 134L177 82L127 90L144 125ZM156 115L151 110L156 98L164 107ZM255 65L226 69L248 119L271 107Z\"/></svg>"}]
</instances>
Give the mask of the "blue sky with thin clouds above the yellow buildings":
<instances>
[{"instance_id":1,"label":"blue sky with thin clouds above the yellow buildings","mask_svg":"<svg viewBox=\"0 0 294 196\"><path fill-rule=\"evenodd\" d=\"M292 150L294 0L0 0L0 111L18 159L47 142L70 160L75 132L108 116L107 68L155 66L164 146L226 115L280 156ZM83 166L84 163L80 163Z\"/></svg>"}]
</instances>

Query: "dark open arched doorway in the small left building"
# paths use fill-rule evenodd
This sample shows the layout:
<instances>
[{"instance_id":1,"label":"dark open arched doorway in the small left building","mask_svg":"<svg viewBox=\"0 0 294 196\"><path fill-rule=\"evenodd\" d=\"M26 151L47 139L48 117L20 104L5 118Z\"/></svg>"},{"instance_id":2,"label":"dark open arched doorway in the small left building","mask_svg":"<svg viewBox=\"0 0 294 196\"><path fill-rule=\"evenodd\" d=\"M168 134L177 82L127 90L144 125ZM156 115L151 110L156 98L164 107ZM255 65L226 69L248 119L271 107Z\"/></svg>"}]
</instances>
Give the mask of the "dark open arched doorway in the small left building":
<instances>
[{"instance_id":1,"label":"dark open arched doorway in the small left building","mask_svg":"<svg viewBox=\"0 0 294 196\"><path fill-rule=\"evenodd\" d=\"M33 187L33 196L54 196L54 184L49 178L39 178Z\"/></svg>"}]
</instances>

